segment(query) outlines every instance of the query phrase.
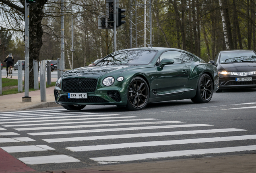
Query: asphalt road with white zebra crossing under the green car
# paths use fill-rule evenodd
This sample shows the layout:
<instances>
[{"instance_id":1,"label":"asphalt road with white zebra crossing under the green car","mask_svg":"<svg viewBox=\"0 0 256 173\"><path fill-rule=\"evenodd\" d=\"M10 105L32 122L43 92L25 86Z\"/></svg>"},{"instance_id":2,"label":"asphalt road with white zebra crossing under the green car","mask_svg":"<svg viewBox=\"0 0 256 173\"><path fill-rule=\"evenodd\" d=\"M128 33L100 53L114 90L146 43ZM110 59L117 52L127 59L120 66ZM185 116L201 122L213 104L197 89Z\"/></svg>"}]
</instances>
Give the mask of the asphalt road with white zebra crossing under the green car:
<instances>
[{"instance_id":1,"label":"asphalt road with white zebra crossing under the green car","mask_svg":"<svg viewBox=\"0 0 256 173\"><path fill-rule=\"evenodd\" d=\"M214 93L207 104L190 100L150 103L142 111L116 106L87 106L78 112L62 107L27 111L0 113L0 128L6 129L0 134L19 134L2 134L0 141L15 137L34 141L2 142L0 147L39 145L45 149L41 145L47 145L46 151L7 151L38 171L256 151L256 89ZM56 155L72 162L29 164L42 156L56 162Z\"/></svg>"}]
</instances>

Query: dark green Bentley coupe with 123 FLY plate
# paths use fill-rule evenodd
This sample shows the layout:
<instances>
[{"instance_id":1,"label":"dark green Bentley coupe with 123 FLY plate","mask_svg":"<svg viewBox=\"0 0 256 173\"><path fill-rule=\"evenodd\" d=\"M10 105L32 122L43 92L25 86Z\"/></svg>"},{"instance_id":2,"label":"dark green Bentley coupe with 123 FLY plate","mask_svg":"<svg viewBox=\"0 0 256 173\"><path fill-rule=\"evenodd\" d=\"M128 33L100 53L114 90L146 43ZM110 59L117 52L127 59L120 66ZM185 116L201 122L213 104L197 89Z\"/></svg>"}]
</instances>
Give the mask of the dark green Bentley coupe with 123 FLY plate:
<instances>
[{"instance_id":1,"label":"dark green Bentley coupe with 123 FLY plate","mask_svg":"<svg viewBox=\"0 0 256 173\"><path fill-rule=\"evenodd\" d=\"M54 96L68 110L117 105L130 111L148 103L191 99L208 103L219 89L214 62L175 48L132 48L107 55L94 66L68 70Z\"/></svg>"}]
</instances>

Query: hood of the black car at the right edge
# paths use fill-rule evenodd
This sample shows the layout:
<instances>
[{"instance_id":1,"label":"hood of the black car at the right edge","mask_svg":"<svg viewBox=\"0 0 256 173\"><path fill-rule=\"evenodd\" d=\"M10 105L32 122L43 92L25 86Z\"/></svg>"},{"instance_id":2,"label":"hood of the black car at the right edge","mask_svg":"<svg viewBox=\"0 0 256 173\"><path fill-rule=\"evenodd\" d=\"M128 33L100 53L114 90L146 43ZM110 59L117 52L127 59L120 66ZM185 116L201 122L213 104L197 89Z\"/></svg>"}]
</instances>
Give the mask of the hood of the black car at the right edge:
<instances>
[{"instance_id":1,"label":"hood of the black car at the right edge","mask_svg":"<svg viewBox=\"0 0 256 173\"><path fill-rule=\"evenodd\" d=\"M256 71L256 62L234 62L229 64L219 64L218 70L228 72Z\"/></svg>"}]
</instances>

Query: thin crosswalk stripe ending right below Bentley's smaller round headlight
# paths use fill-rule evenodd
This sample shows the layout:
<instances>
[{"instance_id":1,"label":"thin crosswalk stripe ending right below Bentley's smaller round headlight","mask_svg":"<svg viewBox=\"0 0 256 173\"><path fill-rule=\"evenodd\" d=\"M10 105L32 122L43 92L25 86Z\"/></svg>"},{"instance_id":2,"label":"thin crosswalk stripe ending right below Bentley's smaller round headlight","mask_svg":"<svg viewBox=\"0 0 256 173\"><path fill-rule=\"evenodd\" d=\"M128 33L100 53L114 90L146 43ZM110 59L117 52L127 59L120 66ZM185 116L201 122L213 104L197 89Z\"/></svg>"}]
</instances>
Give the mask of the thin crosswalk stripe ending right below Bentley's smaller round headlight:
<instances>
[{"instance_id":1,"label":"thin crosswalk stripe ending right below Bentley's smaller round headlight","mask_svg":"<svg viewBox=\"0 0 256 173\"><path fill-rule=\"evenodd\" d=\"M39 117L39 118L20 118L20 119L0 119L0 121L17 121L17 120L29 120L29 119L57 119L57 118L75 118L75 117L103 117L103 116L121 116L120 114L101 114L101 115L71 115L71 116L54 116L54 117Z\"/></svg>"}]
</instances>

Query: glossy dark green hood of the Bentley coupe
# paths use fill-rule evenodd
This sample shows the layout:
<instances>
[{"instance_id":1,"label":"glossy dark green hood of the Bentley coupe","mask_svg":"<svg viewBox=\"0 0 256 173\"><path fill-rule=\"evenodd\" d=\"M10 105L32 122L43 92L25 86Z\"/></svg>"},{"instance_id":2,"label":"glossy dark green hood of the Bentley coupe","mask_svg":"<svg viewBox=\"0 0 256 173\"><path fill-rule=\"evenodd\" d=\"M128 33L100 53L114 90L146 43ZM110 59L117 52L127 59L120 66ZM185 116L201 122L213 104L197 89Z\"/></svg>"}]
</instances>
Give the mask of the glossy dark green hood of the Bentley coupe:
<instances>
[{"instance_id":1,"label":"glossy dark green hood of the Bentley coupe","mask_svg":"<svg viewBox=\"0 0 256 173\"><path fill-rule=\"evenodd\" d=\"M66 71L64 77L99 78L109 72L121 72L129 66L87 66Z\"/></svg>"}]
</instances>

